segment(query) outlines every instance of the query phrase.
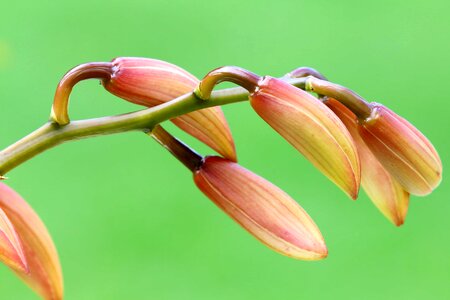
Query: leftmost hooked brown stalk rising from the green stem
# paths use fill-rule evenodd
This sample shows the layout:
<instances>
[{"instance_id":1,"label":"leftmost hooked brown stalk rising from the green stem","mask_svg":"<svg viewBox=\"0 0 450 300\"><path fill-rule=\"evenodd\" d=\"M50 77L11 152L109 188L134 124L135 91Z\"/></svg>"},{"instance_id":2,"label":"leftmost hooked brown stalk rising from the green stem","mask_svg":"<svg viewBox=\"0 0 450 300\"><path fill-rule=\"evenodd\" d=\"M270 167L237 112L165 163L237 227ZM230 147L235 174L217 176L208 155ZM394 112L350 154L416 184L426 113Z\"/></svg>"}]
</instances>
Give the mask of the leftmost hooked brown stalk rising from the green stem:
<instances>
[{"instance_id":1,"label":"leftmost hooked brown stalk rising from the green stem","mask_svg":"<svg viewBox=\"0 0 450 300\"><path fill-rule=\"evenodd\" d=\"M70 122L68 107L69 97L73 87L85 79L109 80L113 74L113 64L110 62L91 62L79 65L64 75L56 88L53 100L51 120L59 125Z\"/></svg>"}]
</instances>

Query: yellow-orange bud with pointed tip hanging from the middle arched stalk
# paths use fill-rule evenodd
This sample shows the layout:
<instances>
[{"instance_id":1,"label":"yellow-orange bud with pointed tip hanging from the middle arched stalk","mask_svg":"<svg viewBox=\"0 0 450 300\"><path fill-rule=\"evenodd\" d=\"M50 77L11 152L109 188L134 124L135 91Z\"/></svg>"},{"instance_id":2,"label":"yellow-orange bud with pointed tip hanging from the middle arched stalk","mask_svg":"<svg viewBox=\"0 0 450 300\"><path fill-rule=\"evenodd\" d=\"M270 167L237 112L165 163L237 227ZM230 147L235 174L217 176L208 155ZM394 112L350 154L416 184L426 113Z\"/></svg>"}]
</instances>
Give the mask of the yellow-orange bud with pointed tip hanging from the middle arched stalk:
<instances>
[{"instance_id":1,"label":"yellow-orange bud with pointed tip hanging from the middle arched stalk","mask_svg":"<svg viewBox=\"0 0 450 300\"><path fill-rule=\"evenodd\" d=\"M359 158L339 118L321 101L282 80L265 77L250 96L254 110L351 198L360 183Z\"/></svg>"}]
</instances>

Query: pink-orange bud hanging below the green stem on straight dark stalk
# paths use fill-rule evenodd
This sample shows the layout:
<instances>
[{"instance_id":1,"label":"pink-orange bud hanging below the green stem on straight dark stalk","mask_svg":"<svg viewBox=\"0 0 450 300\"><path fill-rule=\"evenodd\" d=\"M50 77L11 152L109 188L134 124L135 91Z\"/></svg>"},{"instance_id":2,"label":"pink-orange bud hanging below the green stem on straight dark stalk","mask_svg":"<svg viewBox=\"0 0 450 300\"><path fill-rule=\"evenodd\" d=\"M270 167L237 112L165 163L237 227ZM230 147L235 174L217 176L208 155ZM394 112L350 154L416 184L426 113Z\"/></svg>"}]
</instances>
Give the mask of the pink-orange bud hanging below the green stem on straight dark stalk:
<instances>
[{"instance_id":1,"label":"pink-orange bud hanging below the green stem on straight dark stalk","mask_svg":"<svg viewBox=\"0 0 450 300\"><path fill-rule=\"evenodd\" d=\"M229 160L206 157L194 181L219 208L273 250L303 260L327 256L314 221L264 178Z\"/></svg>"}]
</instances>

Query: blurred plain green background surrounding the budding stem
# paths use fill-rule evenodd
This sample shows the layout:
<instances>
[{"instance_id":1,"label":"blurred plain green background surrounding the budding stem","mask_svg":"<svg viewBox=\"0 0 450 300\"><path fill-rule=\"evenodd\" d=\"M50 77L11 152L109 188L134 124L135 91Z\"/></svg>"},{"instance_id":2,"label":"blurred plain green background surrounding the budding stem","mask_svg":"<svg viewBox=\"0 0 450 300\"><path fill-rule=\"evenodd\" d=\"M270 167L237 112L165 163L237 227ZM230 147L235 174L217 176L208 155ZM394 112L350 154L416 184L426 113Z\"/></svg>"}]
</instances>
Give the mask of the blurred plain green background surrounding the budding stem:
<instances>
[{"instance_id":1,"label":"blurred plain green background surrounding the budding stem","mask_svg":"<svg viewBox=\"0 0 450 300\"><path fill-rule=\"evenodd\" d=\"M8 1L0 12L0 146L48 118L71 67L117 56L222 65L280 76L311 66L387 104L450 163L450 2ZM435 84L437 83L437 84ZM97 81L79 84L71 116L138 109ZM329 257L302 262L256 241L141 133L71 142L12 171L63 266L66 299L450 299L450 185L411 199L395 228L362 192L353 202L247 103L224 107L240 163L310 213ZM169 125L202 153L206 147ZM1 299L37 299L4 266Z\"/></svg>"}]
</instances>

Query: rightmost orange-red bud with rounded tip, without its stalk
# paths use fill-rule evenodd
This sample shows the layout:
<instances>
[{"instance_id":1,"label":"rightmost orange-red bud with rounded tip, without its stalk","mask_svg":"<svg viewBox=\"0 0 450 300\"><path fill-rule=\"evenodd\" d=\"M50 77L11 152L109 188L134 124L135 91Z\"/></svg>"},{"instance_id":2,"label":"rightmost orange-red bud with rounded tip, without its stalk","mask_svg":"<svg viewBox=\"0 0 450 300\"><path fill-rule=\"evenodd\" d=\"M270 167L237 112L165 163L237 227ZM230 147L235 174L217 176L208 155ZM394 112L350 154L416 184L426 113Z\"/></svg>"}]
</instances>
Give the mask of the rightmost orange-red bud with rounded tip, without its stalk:
<instances>
[{"instance_id":1,"label":"rightmost orange-red bud with rounded tip, without its stalk","mask_svg":"<svg viewBox=\"0 0 450 300\"><path fill-rule=\"evenodd\" d=\"M360 121L366 145L411 194L427 195L441 182L442 163L428 139L402 117L378 103Z\"/></svg>"}]
</instances>

